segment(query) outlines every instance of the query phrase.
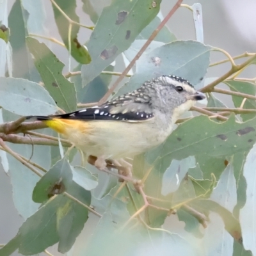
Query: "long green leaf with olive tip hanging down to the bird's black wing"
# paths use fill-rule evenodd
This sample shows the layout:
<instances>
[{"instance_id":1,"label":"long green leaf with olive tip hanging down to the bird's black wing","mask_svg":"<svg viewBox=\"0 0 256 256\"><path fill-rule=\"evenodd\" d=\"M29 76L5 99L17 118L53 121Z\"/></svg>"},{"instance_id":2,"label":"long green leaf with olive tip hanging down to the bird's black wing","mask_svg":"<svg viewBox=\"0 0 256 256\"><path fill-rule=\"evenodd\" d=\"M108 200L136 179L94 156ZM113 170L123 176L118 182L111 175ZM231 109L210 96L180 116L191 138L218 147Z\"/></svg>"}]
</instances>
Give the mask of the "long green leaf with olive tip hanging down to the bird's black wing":
<instances>
[{"instance_id":1,"label":"long green leaf with olive tip hanging down to the bird's black wing","mask_svg":"<svg viewBox=\"0 0 256 256\"><path fill-rule=\"evenodd\" d=\"M75 111L76 90L74 84L62 75L64 64L45 44L39 43L36 39L28 37L27 45L35 58L35 66L44 81L45 88L56 104L66 112Z\"/></svg>"}]
</instances>

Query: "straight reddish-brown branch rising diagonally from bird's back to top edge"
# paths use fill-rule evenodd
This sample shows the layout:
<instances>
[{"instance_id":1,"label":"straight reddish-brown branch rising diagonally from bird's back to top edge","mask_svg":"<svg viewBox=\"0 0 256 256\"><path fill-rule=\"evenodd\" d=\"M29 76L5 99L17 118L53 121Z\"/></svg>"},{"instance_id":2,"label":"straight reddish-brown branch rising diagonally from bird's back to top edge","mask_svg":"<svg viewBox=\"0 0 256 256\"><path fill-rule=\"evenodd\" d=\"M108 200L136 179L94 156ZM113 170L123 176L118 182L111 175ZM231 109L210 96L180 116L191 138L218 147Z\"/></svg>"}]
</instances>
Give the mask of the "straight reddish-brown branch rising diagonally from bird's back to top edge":
<instances>
[{"instance_id":1,"label":"straight reddish-brown branch rising diagonally from bird's back to top edge","mask_svg":"<svg viewBox=\"0 0 256 256\"><path fill-rule=\"evenodd\" d=\"M166 22L170 19L170 17L172 17L173 13L175 13L177 11L177 9L179 8L181 3L182 3L182 0L177 1L175 6L173 6L172 10L170 10L168 15L166 15L166 17L162 20L162 22L159 24L159 26L153 31L152 35L148 38L147 42L143 45L143 47L141 47L140 51L136 54L136 56L133 58L133 60L130 62L130 64L122 72L121 76L118 77L118 79L115 81L113 86L111 86L111 88L109 88L108 92L104 95L104 97L102 97L102 99L100 99L99 105L104 103L106 100L108 100L108 97L114 92L114 90L118 86L118 84L128 74L129 70L131 70L131 68L134 66L136 60L138 60L140 58L141 54L143 54L145 49L147 49L148 45L150 45L152 40L157 36L159 31L164 27Z\"/></svg>"}]
</instances>

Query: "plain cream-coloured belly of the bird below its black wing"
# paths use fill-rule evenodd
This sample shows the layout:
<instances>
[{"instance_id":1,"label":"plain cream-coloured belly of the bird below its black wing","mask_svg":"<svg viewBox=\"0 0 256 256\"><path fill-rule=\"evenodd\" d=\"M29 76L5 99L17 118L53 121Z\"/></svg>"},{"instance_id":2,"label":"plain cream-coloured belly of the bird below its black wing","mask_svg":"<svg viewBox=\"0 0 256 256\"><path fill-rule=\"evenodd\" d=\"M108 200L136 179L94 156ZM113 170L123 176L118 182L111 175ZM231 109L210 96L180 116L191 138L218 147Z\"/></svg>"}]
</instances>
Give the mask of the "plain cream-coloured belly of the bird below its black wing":
<instances>
[{"instance_id":1,"label":"plain cream-coloured belly of the bird below its black wing","mask_svg":"<svg viewBox=\"0 0 256 256\"><path fill-rule=\"evenodd\" d=\"M86 122L84 131L66 132L66 137L86 155L120 159L133 157L161 144L170 134L152 123ZM115 126L115 130L113 129Z\"/></svg>"}]
</instances>

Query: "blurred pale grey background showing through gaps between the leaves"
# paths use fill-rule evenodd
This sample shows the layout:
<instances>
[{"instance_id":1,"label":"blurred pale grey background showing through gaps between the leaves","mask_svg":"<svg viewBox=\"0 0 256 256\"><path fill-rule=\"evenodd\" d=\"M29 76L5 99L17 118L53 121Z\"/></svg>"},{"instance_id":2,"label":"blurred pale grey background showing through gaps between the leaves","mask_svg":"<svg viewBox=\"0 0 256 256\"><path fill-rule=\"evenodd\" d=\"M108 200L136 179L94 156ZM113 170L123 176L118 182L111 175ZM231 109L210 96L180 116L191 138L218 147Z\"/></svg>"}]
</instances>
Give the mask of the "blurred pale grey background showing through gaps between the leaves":
<instances>
[{"instance_id":1,"label":"blurred pale grey background showing through gaps between the leaves","mask_svg":"<svg viewBox=\"0 0 256 256\"><path fill-rule=\"evenodd\" d=\"M38 1L38 0L32 0ZM109 0L93 0L95 6L102 8L110 3ZM142 1L142 0L141 0ZM8 0L8 13L12 9L15 1ZM29 1L27 1L28 3ZM39 1L38 1L39 2ZM47 29L48 35L52 38L56 38L61 41L58 29L54 22L54 16L51 8L50 1L44 2L45 22L44 26ZM161 13L163 17L170 11L173 4L176 1L162 0ZM194 3L201 3L203 10L203 24L204 24L204 44L219 47L229 52L231 56L237 56L244 52L256 51L256 1L253 0L215 0L215 1L193 1L184 0L183 4L193 5ZM0 1L1 8L1 1ZM43 11L43 10L42 10ZM80 17L80 22L90 26L92 22L86 13L82 10L81 0L77 0L77 15ZM179 40L195 40L195 27L193 22L193 14L188 8L179 8L179 10L173 15L173 17L167 23L168 28ZM80 29L79 42L86 42L90 37L90 30ZM36 34L40 35L40 31L36 31ZM52 51L56 54L66 67L63 72L68 71L68 52L65 48L60 47L46 40L40 40L47 43L51 47ZM226 57L221 52L212 52L211 63L219 60L224 60ZM118 61L118 60L117 60ZM75 63L75 62L74 62ZM71 67L74 68L74 63L71 63ZM239 63L239 61L237 61ZM22 67L19 67L22 70ZM218 65L216 67L209 68L207 77L219 77L230 68L229 63ZM122 72L124 65L120 61L120 65L116 65L115 71ZM247 68L241 76L247 78L255 77L255 65ZM12 186L10 179L0 166L0 244L7 243L17 234L17 231L22 224L23 220L16 211L12 201ZM171 216L168 222L172 223L172 218L177 216ZM86 230L90 230L90 225L93 225L94 221L98 221L97 217L90 215L89 221L86 223ZM183 225L180 223L180 225ZM172 231L175 232L175 228L172 227ZM90 236L90 231L80 236L81 241L86 240L86 237ZM53 248L51 250L54 255L60 255ZM19 255L15 253L13 255Z\"/></svg>"}]
</instances>

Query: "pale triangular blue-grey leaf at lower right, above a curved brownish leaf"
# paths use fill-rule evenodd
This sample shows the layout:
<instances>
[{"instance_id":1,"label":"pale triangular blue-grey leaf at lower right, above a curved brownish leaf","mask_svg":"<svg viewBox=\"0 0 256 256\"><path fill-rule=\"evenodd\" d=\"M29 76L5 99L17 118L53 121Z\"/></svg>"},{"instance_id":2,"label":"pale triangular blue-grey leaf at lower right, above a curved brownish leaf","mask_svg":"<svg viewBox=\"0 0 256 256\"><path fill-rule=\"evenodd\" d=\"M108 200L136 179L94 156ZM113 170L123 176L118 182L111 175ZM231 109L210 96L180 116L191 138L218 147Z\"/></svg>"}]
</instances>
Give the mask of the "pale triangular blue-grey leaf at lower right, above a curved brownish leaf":
<instances>
[{"instance_id":1,"label":"pale triangular blue-grey leaf at lower right, above a curved brownish leaf","mask_svg":"<svg viewBox=\"0 0 256 256\"><path fill-rule=\"evenodd\" d=\"M233 212L237 204L236 179L234 177L234 167L230 162L227 168L221 173L220 180L216 188L212 191L211 200Z\"/></svg>"}]
</instances>

